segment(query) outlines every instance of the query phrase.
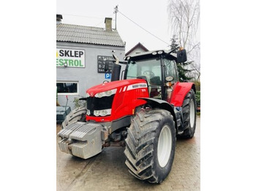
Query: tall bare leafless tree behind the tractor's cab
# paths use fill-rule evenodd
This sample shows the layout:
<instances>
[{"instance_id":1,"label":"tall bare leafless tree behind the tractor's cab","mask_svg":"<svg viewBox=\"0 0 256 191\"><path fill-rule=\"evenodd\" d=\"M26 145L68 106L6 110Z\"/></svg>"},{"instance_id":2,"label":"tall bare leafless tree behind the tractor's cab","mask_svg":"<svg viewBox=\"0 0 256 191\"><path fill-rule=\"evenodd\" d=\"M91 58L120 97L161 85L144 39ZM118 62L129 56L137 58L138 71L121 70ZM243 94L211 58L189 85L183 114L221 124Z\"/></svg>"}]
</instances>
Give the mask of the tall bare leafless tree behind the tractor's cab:
<instances>
[{"instance_id":1,"label":"tall bare leafless tree behind the tractor's cab","mask_svg":"<svg viewBox=\"0 0 256 191\"><path fill-rule=\"evenodd\" d=\"M193 61L191 74L196 80L200 79L200 42L197 42L197 33L200 19L199 0L169 0L168 17L170 20L170 31L178 37L178 45L187 50L188 60ZM197 53L199 52L199 53ZM198 67L199 66L199 67Z\"/></svg>"}]
</instances>

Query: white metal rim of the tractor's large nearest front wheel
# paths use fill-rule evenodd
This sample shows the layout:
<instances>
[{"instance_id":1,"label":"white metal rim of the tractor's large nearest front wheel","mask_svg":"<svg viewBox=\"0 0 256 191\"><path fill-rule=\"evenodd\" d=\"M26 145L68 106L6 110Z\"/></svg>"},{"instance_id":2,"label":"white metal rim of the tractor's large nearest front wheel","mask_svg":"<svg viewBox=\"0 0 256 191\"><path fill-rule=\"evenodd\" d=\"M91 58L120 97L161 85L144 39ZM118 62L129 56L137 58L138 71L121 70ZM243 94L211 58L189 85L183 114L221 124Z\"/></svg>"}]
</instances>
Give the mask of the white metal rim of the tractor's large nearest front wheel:
<instances>
[{"instance_id":1,"label":"white metal rim of the tractor's large nearest front wheel","mask_svg":"<svg viewBox=\"0 0 256 191\"><path fill-rule=\"evenodd\" d=\"M158 139L158 146L157 146L157 159L159 165L161 167L165 167L170 159L170 151L172 148L172 136L170 132L170 127L165 125Z\"/></svg>"}]
</instances>

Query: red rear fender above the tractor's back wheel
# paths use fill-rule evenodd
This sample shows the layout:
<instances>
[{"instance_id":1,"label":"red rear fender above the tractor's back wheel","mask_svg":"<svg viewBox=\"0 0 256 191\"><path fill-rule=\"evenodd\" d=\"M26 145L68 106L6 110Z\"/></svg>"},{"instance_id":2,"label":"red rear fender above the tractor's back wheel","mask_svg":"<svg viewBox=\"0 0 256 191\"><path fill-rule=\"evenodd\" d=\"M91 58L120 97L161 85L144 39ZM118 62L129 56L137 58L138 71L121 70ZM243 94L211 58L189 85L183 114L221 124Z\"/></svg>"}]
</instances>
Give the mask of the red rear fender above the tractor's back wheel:
<instances>
[{"instance_id":1,"label":"red rear fender above the tractor's back wheel","mask_svg":"<svg viewBox=\"0 0 256 191\"><path fill-rule=\"evenodd\" d=\"M195 92L195 84L192 82L177 82L173 87L173 93L170 98L170 104L174 106L182 106L187 93L193 89Z\"/></svg>"}]
</instances>

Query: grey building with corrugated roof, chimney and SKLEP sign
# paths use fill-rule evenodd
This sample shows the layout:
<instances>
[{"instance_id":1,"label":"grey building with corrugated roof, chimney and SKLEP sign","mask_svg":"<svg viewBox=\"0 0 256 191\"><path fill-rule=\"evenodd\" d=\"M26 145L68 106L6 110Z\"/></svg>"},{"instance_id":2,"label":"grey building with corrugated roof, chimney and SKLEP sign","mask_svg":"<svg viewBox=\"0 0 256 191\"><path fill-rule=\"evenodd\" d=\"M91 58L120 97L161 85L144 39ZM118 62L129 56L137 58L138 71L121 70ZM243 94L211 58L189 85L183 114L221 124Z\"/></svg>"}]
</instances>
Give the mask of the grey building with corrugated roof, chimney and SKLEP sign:
<instances>
[{"instance_id":1,"label":"grey building with corrugated roof, chimney and SKLEP sign","mask_svg":"<svg viewBox=\"0 0 256 191\"><path fill-rule=\"evenodd\" d=\"M58 101L74 108L74 98L85 96L86 90L104 80L110 81L105 63L125 56L125 43L112 28L112 18L105 18L105 28L61 23L56 15L56 86Z\"/></svg>"}]
</instances>

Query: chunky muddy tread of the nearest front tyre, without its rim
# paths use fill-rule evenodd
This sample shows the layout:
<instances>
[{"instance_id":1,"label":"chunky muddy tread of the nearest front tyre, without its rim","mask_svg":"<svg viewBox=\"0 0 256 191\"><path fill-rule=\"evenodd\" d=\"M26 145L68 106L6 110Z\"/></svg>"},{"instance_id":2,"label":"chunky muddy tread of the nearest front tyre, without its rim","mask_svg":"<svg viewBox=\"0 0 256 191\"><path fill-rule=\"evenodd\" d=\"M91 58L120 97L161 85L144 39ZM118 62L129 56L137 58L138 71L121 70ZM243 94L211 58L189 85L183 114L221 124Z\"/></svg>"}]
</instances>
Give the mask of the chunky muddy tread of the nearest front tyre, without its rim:
<instances>
[{"instance_id":1,"label":"chunky muddy tread of the nearest front tyre, without its rim","mask_svg":"<svg viewBox=\"0 0 256 191\"><path fill-rule=\"evenodd\" d=\"M175 126L173 116L166 110L141 110L132 120L125 140L127 146L124 150L127 159L125 164L129 168L129 173L151 183L159 182L153 168L153 152L156 130L163 117L170 117L173 127Z\"/></svg>"}]
</instances>

